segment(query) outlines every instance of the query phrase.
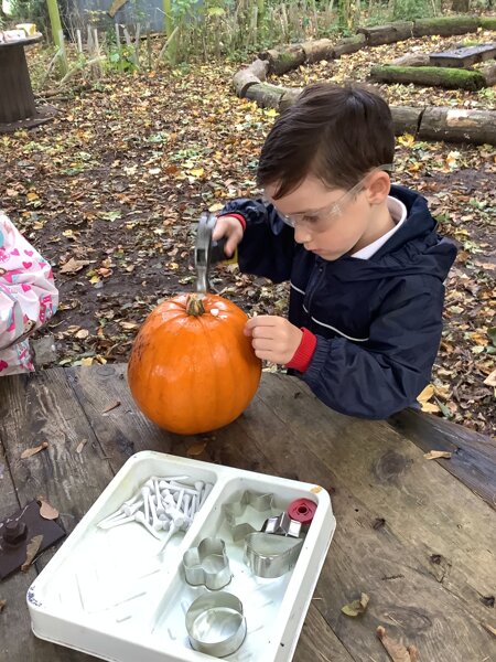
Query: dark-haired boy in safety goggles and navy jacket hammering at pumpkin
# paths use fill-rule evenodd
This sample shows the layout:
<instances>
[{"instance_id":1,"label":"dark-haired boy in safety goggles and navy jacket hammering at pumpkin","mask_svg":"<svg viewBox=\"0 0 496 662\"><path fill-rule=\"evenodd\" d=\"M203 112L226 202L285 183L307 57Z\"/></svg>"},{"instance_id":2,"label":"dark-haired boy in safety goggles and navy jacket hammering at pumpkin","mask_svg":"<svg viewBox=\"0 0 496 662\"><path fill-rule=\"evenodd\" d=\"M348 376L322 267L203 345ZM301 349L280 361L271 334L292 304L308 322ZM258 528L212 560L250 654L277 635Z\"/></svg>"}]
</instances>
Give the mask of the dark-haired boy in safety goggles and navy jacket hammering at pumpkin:
<instances>
[{"instance_id":1,"label":"dark-haired boy in safety goggles and navy jacket hammering at pumpkin","mask_svg":"<svg viewBox=\"0 0 496 662\"><path fill-rule=\"evenodd\" d=\"M289 320L246 325L257 356L365 418L412 405L429 383L456 255L425 200L390 184L393 152L385 100L357 86L310 86L262 147L263 201L228 203L214 231L226 255L239 244L241 271L290 280Z\"/></svg>"}]
</instances>

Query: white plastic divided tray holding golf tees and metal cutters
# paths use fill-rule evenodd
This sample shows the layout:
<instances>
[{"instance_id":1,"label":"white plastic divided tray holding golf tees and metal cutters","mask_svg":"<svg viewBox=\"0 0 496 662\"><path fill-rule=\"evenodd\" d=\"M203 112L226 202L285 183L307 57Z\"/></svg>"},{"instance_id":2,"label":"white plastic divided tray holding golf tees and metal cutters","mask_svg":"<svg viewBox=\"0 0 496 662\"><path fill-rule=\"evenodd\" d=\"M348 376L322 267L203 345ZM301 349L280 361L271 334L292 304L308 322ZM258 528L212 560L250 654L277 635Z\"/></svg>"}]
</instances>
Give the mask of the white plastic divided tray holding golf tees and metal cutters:
<instances>
[{"instance_id":1,"label":"white plastic divided tray holding golf tees and metal cutters","mask_svg":"<svg viewBox=\"0 0 496 662\"><path fill-rule=\"evenodd\" d=\"M101 530L151 476L187 474L214 488L186 533L161 542L140 524ZM316 504L295 567L278 579L255 577L242 560L244 542L233 542L222 505L245 490L274 494L274 514L295 499ZM267 514L250 506L247 517L260 528ZM233 579L223 590L244 605L247 636L233 662L289 662L322 569L335 519L328 493L319 485L241 471L175 456L143 451L132 456L89 509L28 591L36 637L116 662L206 662L192 649L185 612L205 587L184 579L182 557L207 536L226 543ZM165 536L165 532L163 536Z\"/></svg>"}]
</instances>

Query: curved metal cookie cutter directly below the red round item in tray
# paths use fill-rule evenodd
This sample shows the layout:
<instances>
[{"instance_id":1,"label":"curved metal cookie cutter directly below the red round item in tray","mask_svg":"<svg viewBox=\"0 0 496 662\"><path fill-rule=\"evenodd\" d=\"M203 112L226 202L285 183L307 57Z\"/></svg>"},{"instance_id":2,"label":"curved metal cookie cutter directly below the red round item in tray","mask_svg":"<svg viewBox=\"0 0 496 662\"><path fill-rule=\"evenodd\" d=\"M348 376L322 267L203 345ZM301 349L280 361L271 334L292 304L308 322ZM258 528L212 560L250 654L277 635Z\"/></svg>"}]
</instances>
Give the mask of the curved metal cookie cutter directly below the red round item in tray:
<instances>
[{"instance_id":1,"label":"curved metal cookie cutter directly below the red round item in tray","mask_svg":"<svg viewBox=\"0 0 496 662\"><path fill-rule=\"evenodd\" d=\"M250 533L245 540L245 563L257 577L276 579L294 567L303 538Z\"/></svg>"}]
</instances>

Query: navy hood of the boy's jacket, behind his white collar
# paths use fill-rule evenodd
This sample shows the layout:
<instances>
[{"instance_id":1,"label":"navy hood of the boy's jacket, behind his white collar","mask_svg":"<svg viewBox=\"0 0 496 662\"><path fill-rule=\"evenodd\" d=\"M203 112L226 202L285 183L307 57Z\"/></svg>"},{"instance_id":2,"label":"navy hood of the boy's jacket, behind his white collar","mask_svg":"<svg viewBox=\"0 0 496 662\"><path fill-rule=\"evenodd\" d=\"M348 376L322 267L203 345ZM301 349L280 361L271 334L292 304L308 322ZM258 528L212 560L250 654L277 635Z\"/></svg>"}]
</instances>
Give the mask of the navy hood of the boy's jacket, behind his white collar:
<instances>
[{"instance_id":1,"label":"navy hood of the boy's jacket, behind his white collar","mask_svg":"<svg viewBox=\"0 0 496 662\"><path fill-rule=\"evenodd\" d=\"M456 257L456 247L438 235L436 222L429 212L427 200L398 185L392 185L389 194L407 207L407 218L398 232L369 259L343 256L335 261L324 260L327 269L348 280L407 274L423 274L444 280Z\"/></svg>"}]
</instances>

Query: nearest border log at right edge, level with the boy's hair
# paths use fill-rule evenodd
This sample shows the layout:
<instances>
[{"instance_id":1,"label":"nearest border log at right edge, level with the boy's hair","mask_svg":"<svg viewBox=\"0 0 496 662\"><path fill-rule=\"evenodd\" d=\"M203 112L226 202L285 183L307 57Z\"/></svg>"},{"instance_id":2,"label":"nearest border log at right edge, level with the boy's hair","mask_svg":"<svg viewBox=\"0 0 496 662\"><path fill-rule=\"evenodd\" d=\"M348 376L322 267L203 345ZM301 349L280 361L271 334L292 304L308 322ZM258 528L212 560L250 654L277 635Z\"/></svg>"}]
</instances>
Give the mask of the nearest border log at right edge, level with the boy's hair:
<instances>
[{"instance_id":1,"label":"nearest border log at right edge, level with the boy's hair","mask_svg":"<svg viewBox=\"0 0 496 662\"><path fill-rule=\"evenodd\" d=\"M422 115L418 138L496 145L496 111L430 106Z\"/></svg>"}]
</instances>

